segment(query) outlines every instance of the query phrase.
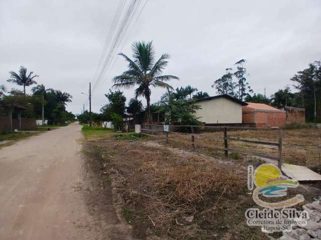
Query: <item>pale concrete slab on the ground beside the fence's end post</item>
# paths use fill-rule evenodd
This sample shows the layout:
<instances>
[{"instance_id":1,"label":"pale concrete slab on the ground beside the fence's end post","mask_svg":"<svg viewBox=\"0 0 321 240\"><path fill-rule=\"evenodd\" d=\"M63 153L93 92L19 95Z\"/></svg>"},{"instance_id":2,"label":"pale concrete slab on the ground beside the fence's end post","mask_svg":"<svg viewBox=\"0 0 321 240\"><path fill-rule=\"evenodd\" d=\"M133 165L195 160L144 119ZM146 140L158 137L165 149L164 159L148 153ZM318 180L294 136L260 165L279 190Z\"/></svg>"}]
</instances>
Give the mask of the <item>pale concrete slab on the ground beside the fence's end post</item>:
<instances>
[{"instance_id":1,"label":"pale concrete slab on the ground beside the fence's end post","mask_svg":"<svg viewBox=\"0 0 321 240\"><path fill-rule=\"evenodd\" d=\"M297 181L321 181L321 175L306 166L283 163L282 171Z\"/></svg>"}]
</instances>

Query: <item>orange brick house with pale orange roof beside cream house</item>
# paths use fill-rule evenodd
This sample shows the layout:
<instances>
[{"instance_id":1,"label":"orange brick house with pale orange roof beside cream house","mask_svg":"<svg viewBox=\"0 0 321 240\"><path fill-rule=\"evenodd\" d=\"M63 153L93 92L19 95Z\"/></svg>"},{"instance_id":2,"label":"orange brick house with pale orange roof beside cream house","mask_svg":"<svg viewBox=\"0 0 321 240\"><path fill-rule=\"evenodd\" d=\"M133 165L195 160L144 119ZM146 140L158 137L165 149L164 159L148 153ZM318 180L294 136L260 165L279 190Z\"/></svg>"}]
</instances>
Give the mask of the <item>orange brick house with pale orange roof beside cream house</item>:
<instances>
[{"instance_id":1,"label":"orange brick house with pale orange roof beside cream house","mask_svg":"<svg viewBox=\"0 0 321 240\"><path fill-rule=\"evenodd\" d=\"M285 111L264 103L247 103L242 107L243 123L255 123L255 127L285 126Z\"/></svg>"}]
</instances>

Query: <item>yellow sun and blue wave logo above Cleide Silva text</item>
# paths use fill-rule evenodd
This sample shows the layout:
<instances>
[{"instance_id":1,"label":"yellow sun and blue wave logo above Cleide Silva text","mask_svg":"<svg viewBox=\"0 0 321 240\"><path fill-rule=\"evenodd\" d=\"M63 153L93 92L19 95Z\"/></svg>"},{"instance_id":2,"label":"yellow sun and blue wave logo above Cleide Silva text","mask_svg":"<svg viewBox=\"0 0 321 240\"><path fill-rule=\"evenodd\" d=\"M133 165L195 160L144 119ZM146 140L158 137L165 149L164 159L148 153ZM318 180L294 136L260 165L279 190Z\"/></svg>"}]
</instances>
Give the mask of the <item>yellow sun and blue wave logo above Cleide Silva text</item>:
<instances>
[{"instance_id":1,"label":"yellow sun and blue wave logo above Cleide Silva text","mask_svg":"<svg viewBox=\"0 0 321 240\"><path fill-rule=\"evenodd\" d=\"M264 163L259 165L254 172L254 184L256 188L253 191L253 200L259 206L277 209L294 206L304 201L304 197L301 194L278 202L267 202L260 199L260 195L265 197L286 196L288 187L297 187L299 185L297 181L282 175L280 169L274 164Z\"/></svg>"}]
</instances>

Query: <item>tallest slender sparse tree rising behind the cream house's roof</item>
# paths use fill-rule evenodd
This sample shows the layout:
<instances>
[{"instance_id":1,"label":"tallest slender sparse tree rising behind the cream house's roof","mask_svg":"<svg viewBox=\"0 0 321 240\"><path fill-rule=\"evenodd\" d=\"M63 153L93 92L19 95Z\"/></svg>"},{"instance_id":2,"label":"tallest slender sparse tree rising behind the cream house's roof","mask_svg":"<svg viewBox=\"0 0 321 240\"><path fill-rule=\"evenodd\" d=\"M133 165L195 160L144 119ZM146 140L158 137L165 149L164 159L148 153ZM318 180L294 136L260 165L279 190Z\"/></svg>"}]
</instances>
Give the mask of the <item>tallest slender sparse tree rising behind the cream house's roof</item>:
<instances>
[{"instance_id":1,"label":"tallest slender sparse tree rising behind the cream house's roof","mask_svg":"<svg viewBox=\"0 0 321 240\"><path fill-rule=\"evenodd\" d=\"M247 82L246 76L248 75L244 64L246 63L245 59L241 59L235 62L236 71L234 72L234 76L237 78L237 87L238 87L238 96L240 100L243 100L248 92L253 92L249 83Z\"/></svg>"}]
</instances>

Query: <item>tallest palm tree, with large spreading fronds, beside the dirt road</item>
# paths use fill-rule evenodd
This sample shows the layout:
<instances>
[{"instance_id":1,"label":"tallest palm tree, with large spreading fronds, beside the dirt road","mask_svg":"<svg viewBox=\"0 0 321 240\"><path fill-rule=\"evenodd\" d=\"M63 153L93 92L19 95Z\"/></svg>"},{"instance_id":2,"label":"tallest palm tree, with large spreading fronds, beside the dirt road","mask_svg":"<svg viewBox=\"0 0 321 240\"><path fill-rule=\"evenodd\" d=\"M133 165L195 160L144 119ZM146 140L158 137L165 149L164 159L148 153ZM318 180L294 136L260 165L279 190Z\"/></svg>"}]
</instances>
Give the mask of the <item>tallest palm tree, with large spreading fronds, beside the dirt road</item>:
<instances>
[{"instance_id":1,"label":"tallest palm tree, with large spreading fronds, beside the dirt road","mask_svg":"<svg viewBox=\"0 0 321 240\"><path fill-rule=\"evenodd\" d=\"M171 79L179 79L177 76L173 75L161 75L168 64L167 59L170 55L164 53L155 61L155 51L151 43L151 41L147 43L139 41L132 44L133 60L125 54L119 53L119 55L123 56L126 61L128 61L128 69L113 78L113 87L131 88L138 85L135 89L135 96L144 96L146 98L148 122L151 122L150 87L173 89L173 87L166 82Z\"/></svg>"}]
</instances>

